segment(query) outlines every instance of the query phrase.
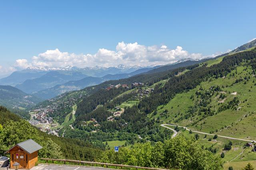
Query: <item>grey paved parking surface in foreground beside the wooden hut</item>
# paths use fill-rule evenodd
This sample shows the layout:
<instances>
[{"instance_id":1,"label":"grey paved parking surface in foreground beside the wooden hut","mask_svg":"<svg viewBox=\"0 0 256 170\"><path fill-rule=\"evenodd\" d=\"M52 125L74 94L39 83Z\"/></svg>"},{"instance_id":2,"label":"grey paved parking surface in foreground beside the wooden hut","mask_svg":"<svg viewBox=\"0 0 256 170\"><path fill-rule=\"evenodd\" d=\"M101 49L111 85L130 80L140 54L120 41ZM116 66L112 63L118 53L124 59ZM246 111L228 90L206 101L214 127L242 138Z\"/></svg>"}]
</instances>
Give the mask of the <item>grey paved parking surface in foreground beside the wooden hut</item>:
<instances>
[{"instance_id":1,"label":"grey paved parking surface in foreground beside the wooden hut","mask_svg":"<svg viewBox=\"0 0 256 170\"><path fill-rule=\"evenodd\" d=\"M106 170L106 168L39 164L38 166L34 166L33 168L31 168L30 170Z\"/></svg>"}]
</instances>

